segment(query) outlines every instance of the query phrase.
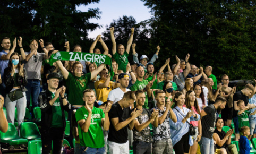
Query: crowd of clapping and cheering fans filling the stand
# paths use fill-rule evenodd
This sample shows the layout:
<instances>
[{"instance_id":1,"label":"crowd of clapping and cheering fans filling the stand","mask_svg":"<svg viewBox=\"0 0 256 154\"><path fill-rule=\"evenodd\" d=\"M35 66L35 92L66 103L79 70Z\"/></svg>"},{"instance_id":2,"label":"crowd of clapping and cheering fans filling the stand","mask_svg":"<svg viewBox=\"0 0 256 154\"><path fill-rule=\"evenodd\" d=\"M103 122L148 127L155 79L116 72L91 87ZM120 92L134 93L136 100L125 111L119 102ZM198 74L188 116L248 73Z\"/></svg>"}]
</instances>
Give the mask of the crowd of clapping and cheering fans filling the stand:
<instances>
[{"instance_id":1,"label":"crowd of clapping and cheering fans filling the stand","mask_svg":"<svg viewBox=\"0 0 256 154\"><path fill-rule=\"evenodd\" d=\"M75 139L75 153L129 153L131 146L133 153L192 154L199 147L201 153L238 153L231 144L233 131L240 153L250 151L248 140L256 138L256 87L246 84L236 91L236 87L228 87L228 75L218 84L214 68L191 64L189 54L185 60L176 56L171 67L170 59L159 54L159 46L150 61L147 55L141 55L139 61L133 33L132 28L125 47L116 45L114 28L110 28L113 56L101 35L90 47L89 53L112 58L114 76L106 64L97 62L58 60L50 65L49 57L58 50L42 39L32 39L30 51L25 52L19 37L19 55L14 52L16 38L12 48L10 38L3 38L0 131L7 131L7 122L14 124L15 107L20 126L31 101L32 117L33 108L39 106L42 112L42 153L50 153L52 142L53 153L61 152L64 110L69 113L69 141ZM95 49L98 41L104 52ZM129 62L131 46L133 61ZM65 48L70 52L69 42ZM75 45L73 52L82 52L82 47ZM156 71L153 63L158 56L166 62ZM223 131L224 125L231 127L232 119L234 129Z\"/></svg>"}]
</instances>

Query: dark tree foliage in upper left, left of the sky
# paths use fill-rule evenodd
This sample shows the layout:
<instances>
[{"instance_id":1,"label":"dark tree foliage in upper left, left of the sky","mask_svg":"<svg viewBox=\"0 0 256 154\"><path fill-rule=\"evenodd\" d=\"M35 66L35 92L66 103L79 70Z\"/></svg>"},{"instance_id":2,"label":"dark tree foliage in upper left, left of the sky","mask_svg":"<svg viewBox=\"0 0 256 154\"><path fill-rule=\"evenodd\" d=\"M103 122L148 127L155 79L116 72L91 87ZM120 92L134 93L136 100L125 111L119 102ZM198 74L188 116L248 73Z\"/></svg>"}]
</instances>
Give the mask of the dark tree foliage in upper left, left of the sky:
<instances>
[{"instance_id":1,"label":"dark tree foliage in upper left, left of the sky","mask_svg":"<svg viewBox=\"0 0 256 154\"><path fill-rule=\"evenodd\" d=\"M99 27L89 19L99 19L98 8L87 12L76 10L76 6L98 3L99 0L2 0L0 2L0 37L21 36L23 45L28 46L32 38L52 42L55 48L64 49L65 39L70 45L90 46L88 31Z\"/></svg>"}]
</instances>

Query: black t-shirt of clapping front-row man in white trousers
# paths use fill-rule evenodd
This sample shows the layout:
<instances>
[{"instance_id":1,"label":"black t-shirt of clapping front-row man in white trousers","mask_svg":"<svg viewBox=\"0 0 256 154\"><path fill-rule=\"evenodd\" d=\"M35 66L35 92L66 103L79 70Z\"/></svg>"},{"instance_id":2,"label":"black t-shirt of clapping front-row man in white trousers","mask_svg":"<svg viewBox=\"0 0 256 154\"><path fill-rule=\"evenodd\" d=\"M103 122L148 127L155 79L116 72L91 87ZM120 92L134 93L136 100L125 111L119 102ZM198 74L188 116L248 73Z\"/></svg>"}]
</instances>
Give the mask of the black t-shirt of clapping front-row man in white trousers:
<instances>
[{"instance_id":1,"label":"black t-shirt of clapping front-row man in white trousers","mask_svg":"<svg viewBox=\"0 0 256 154\"><path fill-rule=\"evenodd\" d=\"M120 129L119 131L115 130L115 127L113 126L113 123L111 121L112 118L118 118L119 122L126 121L127 118L131 116L131 109L130 107L122 109L122 107L119 105L118 102L112 105L110 111L108 112L108 117L110 121L109 126L109 134L108 134L108 140L111 142L116 143L126 143L128 141L128 125Z\"/></svg>"}]
</instances>

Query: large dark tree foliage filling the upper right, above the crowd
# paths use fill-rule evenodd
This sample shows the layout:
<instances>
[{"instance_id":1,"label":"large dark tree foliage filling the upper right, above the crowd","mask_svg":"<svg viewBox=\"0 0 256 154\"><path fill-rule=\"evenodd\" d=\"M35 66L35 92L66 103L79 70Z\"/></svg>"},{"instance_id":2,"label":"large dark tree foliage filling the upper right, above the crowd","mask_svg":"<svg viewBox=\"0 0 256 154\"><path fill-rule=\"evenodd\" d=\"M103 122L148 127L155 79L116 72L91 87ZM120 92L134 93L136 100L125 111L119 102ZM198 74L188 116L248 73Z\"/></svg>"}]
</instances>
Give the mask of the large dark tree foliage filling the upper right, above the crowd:
<instances>
[{"instance_id":1,"label":"large dark tree foliage filling the upper right, above the crowd","mask_svg":"<svg viewBox=\"0 0 256 154\"><path fill-rule=\"evenodd\" d=\"M160 44L172 63L190 53L192 64L211 65L218 80L254 78L255 1L142 1L153 16L140 24L150 27L150 44Z\"/></svg>"}]
</instances>

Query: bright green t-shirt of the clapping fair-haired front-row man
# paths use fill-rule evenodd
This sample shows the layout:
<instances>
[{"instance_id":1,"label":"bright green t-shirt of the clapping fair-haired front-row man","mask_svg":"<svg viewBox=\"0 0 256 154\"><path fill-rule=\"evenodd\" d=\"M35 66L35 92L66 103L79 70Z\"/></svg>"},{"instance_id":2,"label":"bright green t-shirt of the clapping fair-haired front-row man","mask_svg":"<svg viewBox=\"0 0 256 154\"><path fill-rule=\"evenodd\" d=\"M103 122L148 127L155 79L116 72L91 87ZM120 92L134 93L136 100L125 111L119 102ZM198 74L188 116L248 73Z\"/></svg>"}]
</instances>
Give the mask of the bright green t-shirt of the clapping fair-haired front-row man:
<instances>
[{"instance_id":1,"label":"bright green t-shirt of the clapping fair-haired front-row man","mask_svg":"<svg viewBox=\"0 0 256 154\"><path fill-rule=\"evenodd\" d=\"M83 132L80 125L78 125L80 146L90 148L102 148L104 147L104 136L103 130L101 129L101 119L105 118L105 114L102 109L96 107L93 107L91 112L91 124L89 126L88 132ZM85 107L81 107L76 110L76 122L80 120L86 120L87 117L88 112Z\"/></svg>"}]
</instances>

